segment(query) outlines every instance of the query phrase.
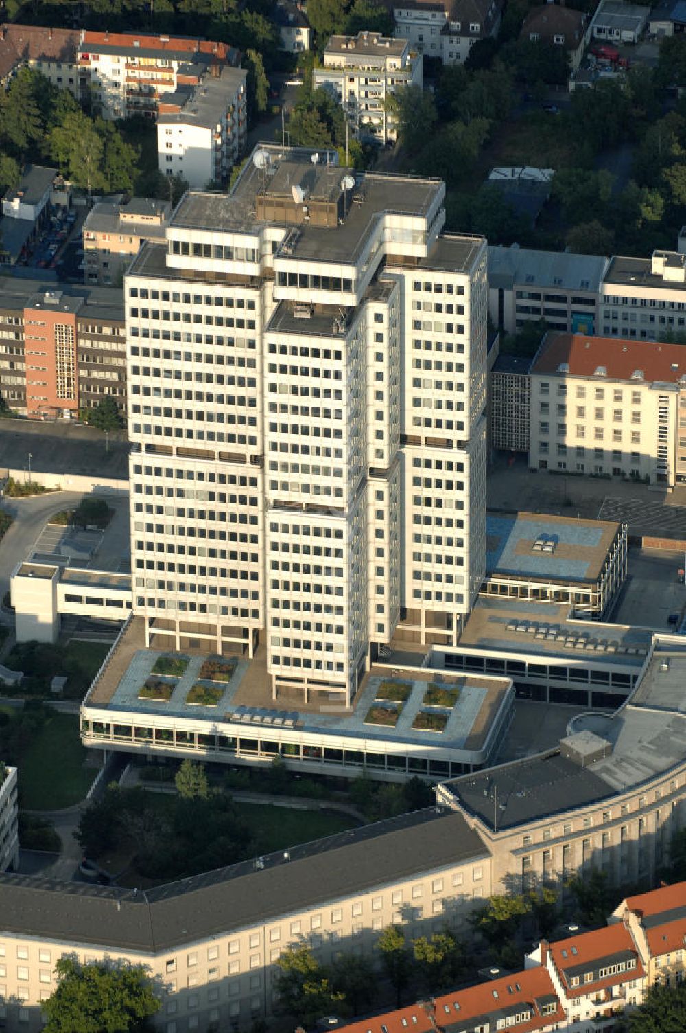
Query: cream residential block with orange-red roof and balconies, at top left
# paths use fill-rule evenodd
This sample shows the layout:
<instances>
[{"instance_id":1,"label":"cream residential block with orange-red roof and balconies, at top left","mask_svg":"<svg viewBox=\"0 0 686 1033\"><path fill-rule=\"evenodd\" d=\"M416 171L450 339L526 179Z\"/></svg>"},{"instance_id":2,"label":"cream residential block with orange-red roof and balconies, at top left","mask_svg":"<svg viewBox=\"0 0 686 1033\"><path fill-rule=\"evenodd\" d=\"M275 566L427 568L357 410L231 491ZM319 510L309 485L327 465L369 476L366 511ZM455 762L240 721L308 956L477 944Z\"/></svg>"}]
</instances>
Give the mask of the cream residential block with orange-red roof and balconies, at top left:
<instances>
[{"instance_id":1,"label":"cream residential block with orange-red roof and balconies, at top left","mask_svg":"<svg viewBox=\"0 0 686 1033\"><path fill-rule=\"evenodd\" d=\"M76 62L78 95L103 118L157 118L161 97L197 86L214 64L236 67L240 55L208 39L105 31L81 34Z\"/></svg>"}]
</instances>

